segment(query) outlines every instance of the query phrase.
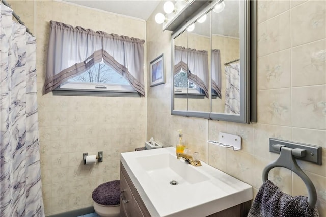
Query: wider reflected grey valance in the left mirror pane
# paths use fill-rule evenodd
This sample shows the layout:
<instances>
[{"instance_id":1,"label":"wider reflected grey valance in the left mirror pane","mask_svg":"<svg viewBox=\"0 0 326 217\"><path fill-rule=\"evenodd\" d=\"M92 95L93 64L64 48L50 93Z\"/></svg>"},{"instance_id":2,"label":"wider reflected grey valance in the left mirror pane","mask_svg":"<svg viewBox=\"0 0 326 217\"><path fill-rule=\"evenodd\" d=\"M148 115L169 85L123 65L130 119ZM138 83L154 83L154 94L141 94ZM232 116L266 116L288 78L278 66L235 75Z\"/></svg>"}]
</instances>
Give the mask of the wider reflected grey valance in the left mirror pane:
<instances>
[{"instance_id":1,"label":"wider reflected grey valance in the left mirror pane","mask_svg":"<svg viewBox=\"0 0 326 217\"><path fill-rule=\"evenodd\" d=\"M208 98L208 52L175 46L174 49L174 74L181 69L188 74L189 80L204 90Z\"/></svg>"}]
</instances>

